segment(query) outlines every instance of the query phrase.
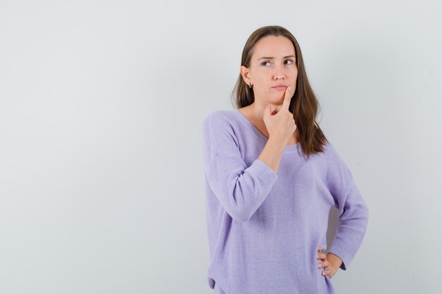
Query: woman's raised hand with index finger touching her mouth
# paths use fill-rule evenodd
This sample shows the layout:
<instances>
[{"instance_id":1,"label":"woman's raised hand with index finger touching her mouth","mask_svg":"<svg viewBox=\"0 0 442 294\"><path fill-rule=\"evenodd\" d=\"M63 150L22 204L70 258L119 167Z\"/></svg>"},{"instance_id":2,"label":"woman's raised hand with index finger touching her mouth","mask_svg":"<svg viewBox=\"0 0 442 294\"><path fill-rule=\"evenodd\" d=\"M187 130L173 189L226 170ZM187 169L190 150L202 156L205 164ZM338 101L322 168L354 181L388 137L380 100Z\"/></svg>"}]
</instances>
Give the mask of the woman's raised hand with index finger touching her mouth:
<instances>
[{"instance_id":1,"label":"woman's raised hand with index finger touching her mouth","mask_svg":"<svg viewBox=\"0 0 442 294\"><path fill-rule=\"evenodd\" d=\"M293 136L297 125L294 123L292 112L289 111L290 100L293 96L290 87L285 88L284 93L282 107L276 114L273 114L275 109L272 109L272 106L269 104L265 108L263 121L265 123L265 128L267 128L269 139L273 138L280 140L285 146L290 137Z\"/></svg>"}]
</instances>

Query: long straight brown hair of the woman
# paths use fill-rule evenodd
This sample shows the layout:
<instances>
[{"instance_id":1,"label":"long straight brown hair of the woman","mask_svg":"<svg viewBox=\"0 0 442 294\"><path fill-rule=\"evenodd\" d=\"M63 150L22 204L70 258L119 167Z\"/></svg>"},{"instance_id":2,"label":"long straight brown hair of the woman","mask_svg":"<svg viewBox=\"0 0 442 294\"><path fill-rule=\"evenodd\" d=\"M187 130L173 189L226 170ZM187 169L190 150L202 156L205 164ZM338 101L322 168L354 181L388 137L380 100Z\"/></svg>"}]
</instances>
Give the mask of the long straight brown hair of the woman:
<instances>
[{"instance_id":1,"label":"long straight brown hair of the woman","mask_svg":"<svg viewBox=\"0 0 442 294\"><path fill-rule=\"evenodd\" d=\"M316 123L316 115L318 114L320 106L307 78L301 48L299 47L297 39L294 38L291 32L279 25L260 27L250 35L244 45L241 56L241 66L249 68L251 56L253 55L253 47L256 42L270 35L286 37L292 41L294 47L298 76L296 90L290 100L289 111L292 112L297 125L296 133L299 143L307 159L309 159L310 154L323 152L323 145L325 145L328 140L321 128L319 128L318 123ZM255 101L253 88L249 88L249 85L247 85L242 78L241 73L239 73L237 84L232 92L232 98L234 99L237 109L248 106Z\"/></svg>"}]
</instances>

